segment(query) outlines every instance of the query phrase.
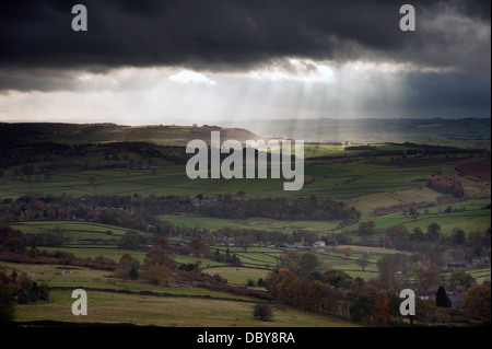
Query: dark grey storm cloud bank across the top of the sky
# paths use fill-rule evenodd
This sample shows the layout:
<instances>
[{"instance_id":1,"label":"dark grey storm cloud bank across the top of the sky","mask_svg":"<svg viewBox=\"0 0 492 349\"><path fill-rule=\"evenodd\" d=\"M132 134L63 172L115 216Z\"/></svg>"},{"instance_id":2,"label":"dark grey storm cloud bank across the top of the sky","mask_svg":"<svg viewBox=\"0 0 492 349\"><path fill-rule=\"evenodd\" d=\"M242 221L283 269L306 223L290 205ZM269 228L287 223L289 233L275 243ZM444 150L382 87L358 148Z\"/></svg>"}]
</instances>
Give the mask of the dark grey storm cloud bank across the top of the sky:
<instances>
[{"instance_id":1,"label":"dark grey storm cloud bank across the top of the sky","mask_svg":"<svg viewBox=\"0 0 492 349\"><path fill-rule=\"evenodd\" d=\"M398 26L399 8L407 2L417 9L413 33ZM87 32L71 30L75 3L87 8ZM446 11L447 21L421 22ZM443 27L457 21L467 25L459 35ZM489 35L475 33L487 24ZM179 65L245 70L285 56L490 69L489 0L13 0L1 4L0 33L0 69ZM489 46L480 51L464 40Z\"/></svg>"}]
</instances>

